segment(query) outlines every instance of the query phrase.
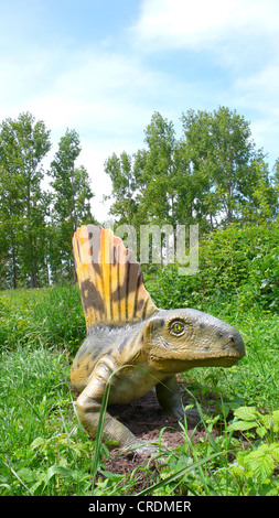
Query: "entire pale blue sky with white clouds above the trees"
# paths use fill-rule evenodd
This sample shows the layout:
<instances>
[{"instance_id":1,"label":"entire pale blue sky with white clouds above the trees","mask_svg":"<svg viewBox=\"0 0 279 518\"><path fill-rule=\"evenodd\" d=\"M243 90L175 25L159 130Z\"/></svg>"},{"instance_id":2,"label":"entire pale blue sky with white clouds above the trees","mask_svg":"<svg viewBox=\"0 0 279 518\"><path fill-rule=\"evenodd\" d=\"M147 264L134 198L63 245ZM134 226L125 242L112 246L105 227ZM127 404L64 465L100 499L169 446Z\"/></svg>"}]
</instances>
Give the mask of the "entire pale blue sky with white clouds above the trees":
<instances>
[{"instance_id":1,"label":"entire pale blue sky with white clouds above the trees","mask_svg":"<svg viewBox=\"0 0 279 518\"><path fill-rule=\"evenodd\" d=\"M278 0L0 0L0 120L31 111L83 147L93 212L104 162L143 147L154 111L236 109L270 168L279 157Z\"/></svg>"}]
</instances>

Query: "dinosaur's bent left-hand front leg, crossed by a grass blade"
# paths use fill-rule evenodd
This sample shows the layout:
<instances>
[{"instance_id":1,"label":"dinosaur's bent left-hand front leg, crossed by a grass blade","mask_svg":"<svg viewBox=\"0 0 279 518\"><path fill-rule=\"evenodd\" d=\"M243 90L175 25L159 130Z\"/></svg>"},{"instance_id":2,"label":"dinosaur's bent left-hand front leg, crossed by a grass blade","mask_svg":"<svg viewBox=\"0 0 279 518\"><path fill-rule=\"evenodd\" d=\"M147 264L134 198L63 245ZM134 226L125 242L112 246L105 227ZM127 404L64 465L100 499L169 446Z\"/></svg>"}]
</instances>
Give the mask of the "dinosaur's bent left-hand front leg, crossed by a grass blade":
<instances>
[{"instance_id":1,"label":"dinosaur's bent left-hand front leg, crossed by a grass blade","mask_svg":"<svg viewBox=\"0 0 279 518\"><path fill-rule=\"evenodd\" d=\"M104 356L76 401L79 420L93 439L96 439L106 387L115 370L116 366L111 357ZM139 452L154 453L153 446L139 441L127 427L114 419L108 412L105 413L103 433L105 439L117 443L122 450L139 447Z\"/></svg>"}]
</instances>

